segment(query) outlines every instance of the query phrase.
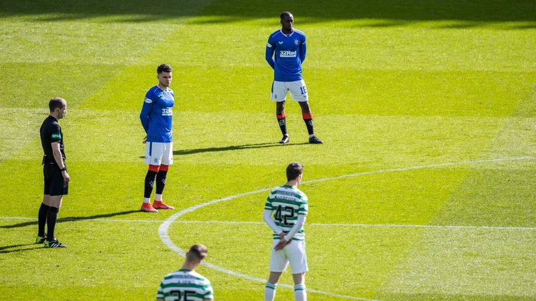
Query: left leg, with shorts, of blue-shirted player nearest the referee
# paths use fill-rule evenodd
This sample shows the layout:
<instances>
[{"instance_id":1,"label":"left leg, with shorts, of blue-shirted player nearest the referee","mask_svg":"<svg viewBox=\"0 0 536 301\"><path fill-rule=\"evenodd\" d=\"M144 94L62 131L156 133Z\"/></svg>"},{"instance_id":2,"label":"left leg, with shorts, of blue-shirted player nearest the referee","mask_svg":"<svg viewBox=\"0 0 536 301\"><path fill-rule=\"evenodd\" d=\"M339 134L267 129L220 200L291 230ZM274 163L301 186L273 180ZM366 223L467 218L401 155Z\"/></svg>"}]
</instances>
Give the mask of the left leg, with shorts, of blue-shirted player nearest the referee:
<instances>
[{"instance_id":1,"label":"left leg, with shorts, of blue-shirted player nearest the referee","mask_svg":"<svg viewBox=\"0 0 536 301\"><path fill-rule=\"evenodd\" d=\"M147 142L145 145L145 164L149 164L149 169L145 174L144 191L143 191L143 203L140 210L145 212L158 212L151 205L151 193L153 192L154 179L156 173L160 169L162 161L163 146L157 142Z\"/></svg>"}]
</instances>

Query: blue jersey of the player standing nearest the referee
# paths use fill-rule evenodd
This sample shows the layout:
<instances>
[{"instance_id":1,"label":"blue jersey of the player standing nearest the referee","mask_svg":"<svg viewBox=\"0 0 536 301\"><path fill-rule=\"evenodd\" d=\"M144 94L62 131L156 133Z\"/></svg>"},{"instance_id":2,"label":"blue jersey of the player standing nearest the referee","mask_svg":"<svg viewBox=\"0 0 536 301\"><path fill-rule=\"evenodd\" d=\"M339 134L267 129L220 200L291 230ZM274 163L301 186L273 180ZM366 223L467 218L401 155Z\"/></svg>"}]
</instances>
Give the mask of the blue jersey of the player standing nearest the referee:
<instances>
[{"instance_id":1,"label":"blue jersey of the player standing nearest the referee","mask_svg":"<svg viewBox=\"0 0 536 301\"><path fill-rule=\"evenodd\" d=\"M158 85L147 91L140 120L147 132L147 142L173 141L172 116L175 94L172 89L162 90Z\"/></svg>"}]
</instances>

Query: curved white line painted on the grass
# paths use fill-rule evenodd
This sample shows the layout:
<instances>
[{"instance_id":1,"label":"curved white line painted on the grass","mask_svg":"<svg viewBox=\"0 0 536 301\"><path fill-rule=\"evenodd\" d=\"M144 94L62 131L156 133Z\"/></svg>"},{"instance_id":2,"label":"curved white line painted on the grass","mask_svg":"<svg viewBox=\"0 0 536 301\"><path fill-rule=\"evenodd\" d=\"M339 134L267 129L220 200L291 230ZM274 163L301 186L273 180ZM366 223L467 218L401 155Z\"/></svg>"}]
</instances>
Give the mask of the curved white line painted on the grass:
<instances>
[{"instance_id":1,"label":"curved white line painted on the grass","mask_svg":"<svg viewBox=\"0 0 536 301\"><path fill-rule=\"evenodd\" d=\"M535 160L535 159L536 159L536 157L511 157L511 158L490 159L490 160L476 160L476 161L463 161L463 162L451 162L451 163L442 163L442 164L421 165L421 166L403 167L403 168L397 168L397 169L381 169L381 170L378 170L378 171L364 171L364 172L361 172L361 173L349 173L349 174L342 175L342 176L334 176L334 177L329 177L329 178L320 178L320 179L316 179L316 180L308 180L308 181L301 182L301 184L317 183L317 182L322 182L322 181L326 181L326 180L337 180L337 179L342 179L342 178L350 178L350 177L353 177L353 176L364 176L364 175L373 174L373 173L386 173L386 172L392 172L392 171L408 171L408 170L412 170L412 169L426 169L426 168L435 168L435 167L447 167L447 166L452 166L452 165L476 164L476 163L484 163L484 162L501 162L501 161L515 161L515 160ZM246 196L246 195L249 195L249 194L256 194L256 193L259 193L259 192L267 192L267 191L269 191L271 189L272 189L272 187L264 188L264 189L261 189L261 190L254 190L254 191L251 191L251 192L244 192L244 193L241 193L241 194L235 194L235 195L227 196L227 197L224 197L224 198L221 198L221 199L214 199L212 201L207 201L205 203L200 203L200 204L192 206L190 208L186 208L184 210L181 210L178 213L175 213L174 215L171 215L170 217L168 217L168 219L165 219L165 221L162 222L162 224L158 227L158 236L160 236L162 242L164 242L164 244L167 247L172 249L174 252L177 252L177 254L179 254L180 256L184 257L186 255L186 252L184 252L183 249L177 247L177 245L174 244L174 242L171 240L170 236L168 235L168 230L170 228L170 225L177 218L181 217L182 215L185 215L186 213L191 213L194 210L198 210L199 208L203 208L205 206L209 206L209 205L212 205L214 203L219 203L221 201L228 201L230 199L236 199L236 198L238 198L240 196ZM260 279L260 278L253 277L253 276L250 276L250 275L245 275L245 274L242 274L242 273L239 273L239 272L234 272L232 270L222 268L221 266L214 265L214 264L208 263L206 261L203 264L206 265L209 268L212 268L214 270L218 270L220 272L225 272L225 273L227 273L229 275L242 277L242 278L245 278L245 279L250 279L250 280L258 281L258 282L262 282L262 283L266 282L265 279ZM288 287L288 288L293 287L293 286L290 286L288 284L278 284L278 286L283 286L283 287ZM335 293L329 293L329 292L325 292L325 291L317 291L317 290L313 290L313 289L310 289L310 288L308 288L307 290L309 292L311 292L311 293L320 293L320 294L323 294L323 295L331 295L331 296L340 297L340 298L347 298L347 299L353 299L353 300L363 300L363 301L375 301L375 300L372 300L372 299L359 298L359 297L350 296L350 295L338 295L338 294L335 294Z\"/></svg>"}]
</instances>

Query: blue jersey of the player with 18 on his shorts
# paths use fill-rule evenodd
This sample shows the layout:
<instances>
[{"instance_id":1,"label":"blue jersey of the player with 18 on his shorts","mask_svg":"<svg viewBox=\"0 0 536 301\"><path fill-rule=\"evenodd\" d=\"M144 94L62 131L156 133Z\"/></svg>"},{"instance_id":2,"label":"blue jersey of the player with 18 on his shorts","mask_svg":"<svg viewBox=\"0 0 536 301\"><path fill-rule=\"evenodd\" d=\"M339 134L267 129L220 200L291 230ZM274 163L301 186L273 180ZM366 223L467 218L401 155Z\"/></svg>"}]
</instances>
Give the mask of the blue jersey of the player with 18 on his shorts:
<instances>
[{"instance_id":1,"label":"blue jersey of the player with 18 on his shorts","mask_svg":"<svg viewBox=\"0 0 536 301\"><path fill-rule=\"evenodd\" d=\"M305 33L302 31L294 29L290 34L283 33L281 29L274 31L266 45L266 61L274 68L274 80L295 82L303 79L301 63L305 60L306 49Z\"/></svg>"}]
</instances>

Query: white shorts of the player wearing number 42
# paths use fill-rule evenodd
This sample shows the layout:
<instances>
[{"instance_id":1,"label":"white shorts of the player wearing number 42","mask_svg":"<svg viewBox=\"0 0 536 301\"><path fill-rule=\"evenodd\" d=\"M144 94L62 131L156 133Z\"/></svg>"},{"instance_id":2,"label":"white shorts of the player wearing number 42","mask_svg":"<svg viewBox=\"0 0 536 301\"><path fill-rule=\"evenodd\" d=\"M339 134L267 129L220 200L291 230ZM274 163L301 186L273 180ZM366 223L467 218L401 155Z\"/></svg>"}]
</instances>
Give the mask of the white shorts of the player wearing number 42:
<instances>
[{"instance_id":1,"label":"white shorts of the player wearing number 42","mask_svg":"<svg viewBox=\"0 0 536 301\"><path fill-rule=\"evenodd\" d=\"M276 251L279 240L274 240L271 246L270 272L285 272L288 263L292 274L307 272L307 256L305 254L305 240L292 240L281 250Z\"/></svg>"}]
</instances>

